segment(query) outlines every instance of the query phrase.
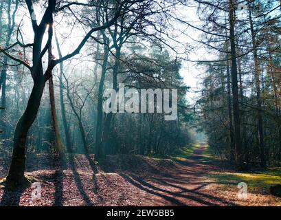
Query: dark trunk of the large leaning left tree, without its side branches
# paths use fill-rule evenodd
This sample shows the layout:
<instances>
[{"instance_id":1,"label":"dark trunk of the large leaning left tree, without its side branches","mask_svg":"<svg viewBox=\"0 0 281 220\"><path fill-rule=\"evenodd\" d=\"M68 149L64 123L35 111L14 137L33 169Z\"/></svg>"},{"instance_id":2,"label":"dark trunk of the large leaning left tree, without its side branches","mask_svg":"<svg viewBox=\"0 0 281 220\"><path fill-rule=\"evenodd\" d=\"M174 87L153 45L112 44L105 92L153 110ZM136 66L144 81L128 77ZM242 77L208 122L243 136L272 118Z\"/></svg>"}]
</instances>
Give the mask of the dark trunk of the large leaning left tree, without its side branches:
<instances>
[{"instance_id":1,"label":"dark trunk of the large leaning left tree, without its side branches","mask_svg":"<svg viewBox=\"0 0 281 220\"><path fill-rule=\"evenodd\" d=\"M19 1L16 1L18 3ZM31 1L26 1L27 6L32 5ZM56 5L56 1L50 1L48 3L48 8L46 10L46 14L43 17L43 24L52 23L52 12L54 11L54 6ZM15 13L13 14L14 19ZM14 22L13 22L14 25ZM44 74L43 65L42 65L42 41L43 35L45 33L47 25L37 26L34 28L34 41L33 41L33 51L32 51L32 63L33 66L30 69L31 75L33 78L34 85L32 87L32 92L30 94L30 98L27 102L27 107L19 122L16 124L16 128L14 131L14 144L12 151L12 162L10 164L10 169L8 176L6 177L7 185L11 188L22 185L27 181L24 176L25 170L25 151L26 151L26 140L27 140L27 132L32 126L36 115L38 113L38 109L40 107L41 98L43 95L45 83L48 80L49 76L52 74L52 69L54 65L49 65ZM10 31L12 28L10 29ZM49 28L49 40L52 40L52 30Z\"/></svg>"}]
</instances>

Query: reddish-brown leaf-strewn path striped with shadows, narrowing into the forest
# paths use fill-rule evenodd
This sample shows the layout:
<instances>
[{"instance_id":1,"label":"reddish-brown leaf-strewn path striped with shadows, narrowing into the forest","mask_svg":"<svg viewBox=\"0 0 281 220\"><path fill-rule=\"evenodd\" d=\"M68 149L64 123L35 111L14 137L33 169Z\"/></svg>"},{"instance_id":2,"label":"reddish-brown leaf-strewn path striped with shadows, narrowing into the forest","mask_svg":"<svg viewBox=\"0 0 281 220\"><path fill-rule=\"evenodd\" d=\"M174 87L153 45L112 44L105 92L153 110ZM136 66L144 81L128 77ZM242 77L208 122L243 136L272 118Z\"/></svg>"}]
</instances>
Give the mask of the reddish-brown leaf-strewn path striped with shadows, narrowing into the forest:
<instances>
[{"instance_id":1,"label":"reddish-brown leaf-strewn path striped with shadows, narrowing into the forest","mask_svg":"<svg viewBox=\"0 0 281 220\"><path fill-rule=\"evenodd\" d=\"M146 177L122 175L133 186L146 192L144 206L234 206L205 192L212 180L207 177L214 166L206 163L206 143L195 144L188 159L177 160L174 166Z\"/></svg>"}]
</instances>

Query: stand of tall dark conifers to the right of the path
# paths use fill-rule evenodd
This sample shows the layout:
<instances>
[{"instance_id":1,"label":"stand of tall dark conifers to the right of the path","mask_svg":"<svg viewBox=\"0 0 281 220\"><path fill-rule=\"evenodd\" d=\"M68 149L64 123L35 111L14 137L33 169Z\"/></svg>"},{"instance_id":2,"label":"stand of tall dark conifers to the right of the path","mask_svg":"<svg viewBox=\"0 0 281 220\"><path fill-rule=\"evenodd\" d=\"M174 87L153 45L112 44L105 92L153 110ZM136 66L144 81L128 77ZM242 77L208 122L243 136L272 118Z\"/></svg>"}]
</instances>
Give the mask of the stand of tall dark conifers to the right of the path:
<instances>
[{"instance_id":1,"label":"stand of tall dark conifers to the right of the path","mask_svg":"<svg viewBox=\"0 0 281 220\"><path fill-rule=\"evenodd\" d=\"M210 126L206 128L210 144L223 157L233 159L235 143L238 170L253 164L265 167L279 163L280 159L276 157L281 153L279 129L276 129L279 122L273 115L277 112L280 97L276 98L279 91L276 78L272 80L274 77L270 72L271 53L266 46L269 41L265 33L269 33L269 27L276 32L273 27L280 24L280 13L276 13L280 10L280 2L199 3L199 10L207 8L201 19L208 28L199 43L218 54L214 61L201 62L206 67L206 75L199 104L203 122ZM229 13L228 20L225 19L226 13ZM223 32L227 33L225 39ZM280 44L278 35L275 42ZM280 56L277 45L271 50L276 57ZM275 125L269 126L271 122Z\"/></svg>"}]
</instances>

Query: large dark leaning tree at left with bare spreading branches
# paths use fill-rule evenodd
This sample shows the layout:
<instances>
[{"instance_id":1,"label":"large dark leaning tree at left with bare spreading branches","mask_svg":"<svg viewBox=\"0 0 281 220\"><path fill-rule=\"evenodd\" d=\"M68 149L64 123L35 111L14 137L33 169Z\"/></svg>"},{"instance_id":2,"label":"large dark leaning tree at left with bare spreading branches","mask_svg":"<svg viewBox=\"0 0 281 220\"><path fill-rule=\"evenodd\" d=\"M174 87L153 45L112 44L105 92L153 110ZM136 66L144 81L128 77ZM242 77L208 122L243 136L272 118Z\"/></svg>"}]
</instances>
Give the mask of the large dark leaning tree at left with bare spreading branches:
<instances>
[{"instance_id":1,"label":"large dark leaning tree at left with bare spreading branches","mask_svg":"<svg viewBox=\"0 0 281 220\"><path fill-rule=\"evenodd\" d=\"M32 126L34 120L36 119L45 83L47 82L47 80L49 80L49 78L52 77L52 69L54 69L55 65L57 65L58 63L66 61L72 56L78 54L82 47L85 45L85 43L87 43L87 40L90 38L91 34L98 30L102 30L113 25L116 19L120 16L122 7L126 2L127 1L125 0L115 5L115 8L112 10L113 14L111 15L111 17L108 18L104 25L98 27L95 26L94 28L91 28L91 30L87 32L85 37L82 39L82 41L80 41L80 44L78 45L78 47L76 47L73 52L67 54L66 56L63 56L62 58L59 58L58 60L52 59L52 61L49 62L49 65L47 65L46 69L44 70L43 56L46 54L47 50L49 49L49 46L52 43L54 12L60 12L65 8L71 7L71 5L79 5L79 3L74 2L66 3L65 5L60 5L62 3L61 1L59 1L58 3L57 1L48 1L47 8L45 9L41 21L40 23L37 23L36 12L34 11L34 5L32 1L25 1L28 12L30 13L30 21L32 23L32 29L34 32L33 42L28 45L25 45L19 39L16 39L16 43L8 47L1 47L0 49L0 52L5 54L5 56L8 56L8 58L11 58L13 61L20 63L21 65L24 65L27 69L29 69L32 79L34 81L32 92L27 102L27 107L23 115L21 116L19 122L16 124L16 129L14 131L12 162L10 165L8 176L6 178L10 186L17 186L27 181L24 176L25 144L27 139L27 132L29 131L30 126ZM130 1L129 5L127 6L130 7L134 3L135 1ZM46 30L48 31L48 39L47 43L43 45L43 36L45 35ZM12 50L15 46L22 47L22 50L25 47L32 47L32 66L30 66L30 64L27 62L26 57L21 59L16 58L16 56L12 55L10 50Z\"/></svg>"}]
</instances>

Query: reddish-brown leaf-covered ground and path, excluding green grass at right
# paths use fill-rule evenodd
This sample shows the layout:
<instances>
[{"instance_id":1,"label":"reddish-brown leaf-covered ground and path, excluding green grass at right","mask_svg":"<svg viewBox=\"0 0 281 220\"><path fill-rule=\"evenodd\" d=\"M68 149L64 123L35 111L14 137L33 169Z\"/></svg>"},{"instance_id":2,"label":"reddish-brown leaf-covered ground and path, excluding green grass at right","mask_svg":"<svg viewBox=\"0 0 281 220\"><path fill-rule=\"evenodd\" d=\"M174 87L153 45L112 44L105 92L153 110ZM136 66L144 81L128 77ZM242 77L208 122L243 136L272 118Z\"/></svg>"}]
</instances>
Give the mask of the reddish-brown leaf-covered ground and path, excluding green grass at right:
<instances>
[{"instance_id":1,"label":"reddish-brown leaf-covered ground and path, excluding green grass at right","mask_svg":"<svg viewBox=\"0 0 281 220\"><path fill-rule=\"evenodd\" d=\"M32 199L32 187L0 189L0 206L232 206L207 190L206 175L216 168L201 162L206 148L202 143L189 159L177 162L142 159L132 170L100 167L96 175L82 157L72 170L30 170L41 184L41 199Z\"/></svg>"}]
</instances>

